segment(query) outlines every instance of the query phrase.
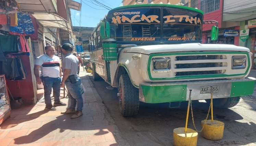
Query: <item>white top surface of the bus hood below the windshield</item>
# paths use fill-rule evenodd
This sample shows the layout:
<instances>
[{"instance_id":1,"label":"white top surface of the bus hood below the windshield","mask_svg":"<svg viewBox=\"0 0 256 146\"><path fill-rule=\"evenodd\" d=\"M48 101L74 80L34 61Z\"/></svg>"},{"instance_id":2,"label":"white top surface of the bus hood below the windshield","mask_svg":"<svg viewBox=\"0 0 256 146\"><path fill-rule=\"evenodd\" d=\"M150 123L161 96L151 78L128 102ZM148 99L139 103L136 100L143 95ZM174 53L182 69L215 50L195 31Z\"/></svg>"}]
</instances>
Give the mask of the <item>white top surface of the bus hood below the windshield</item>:
<instances>
[{"instance_id":1,"label":"white top surface of the bus hood below the windshield","mask_svg":"<svg viewBox=\"0 0 256 146\"><path fill-rule=\"evenodd\" d=\"M160 44L144 45L138 47L124 48L123 53L163 53L163 52L189 52L189 51L239 51L250 52L248 48L239 47L230 44L201 44L201 43L184 43L184 44Z\"/></svg>"}]
</instances>

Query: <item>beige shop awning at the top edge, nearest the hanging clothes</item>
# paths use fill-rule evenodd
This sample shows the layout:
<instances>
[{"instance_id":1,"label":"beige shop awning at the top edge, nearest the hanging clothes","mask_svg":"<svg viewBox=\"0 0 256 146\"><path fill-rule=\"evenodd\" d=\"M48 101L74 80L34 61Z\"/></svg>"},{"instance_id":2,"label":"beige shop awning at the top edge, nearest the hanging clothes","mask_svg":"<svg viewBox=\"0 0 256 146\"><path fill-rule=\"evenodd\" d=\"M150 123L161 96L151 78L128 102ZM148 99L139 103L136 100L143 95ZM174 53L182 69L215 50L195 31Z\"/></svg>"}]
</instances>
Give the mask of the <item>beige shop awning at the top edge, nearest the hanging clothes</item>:
<instances>
[{"instance_id":1,"label":"beige shop awning at the top edge, nearest the hanging clothes","mask_svg":"<svg viewBox=\"0 0 256 146\"><path fill-rule=\"evenodd\" d=\"M22 12L56 13L57 0L16 0Z\"/></svg>"}]
</instances>

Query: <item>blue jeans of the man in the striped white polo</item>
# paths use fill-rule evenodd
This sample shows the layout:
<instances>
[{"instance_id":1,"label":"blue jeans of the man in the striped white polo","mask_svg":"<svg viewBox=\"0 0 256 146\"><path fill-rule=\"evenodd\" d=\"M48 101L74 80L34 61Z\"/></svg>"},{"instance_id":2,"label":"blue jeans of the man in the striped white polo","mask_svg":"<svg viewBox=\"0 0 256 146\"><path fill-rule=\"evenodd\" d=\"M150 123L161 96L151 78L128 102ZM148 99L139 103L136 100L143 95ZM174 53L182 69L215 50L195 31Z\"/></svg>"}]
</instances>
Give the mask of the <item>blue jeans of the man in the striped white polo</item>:
<instances>
[{"instance_id":1,"label":"blue jeans of the man in the striped white polo","mask_svg":"<svg viewBox=\"0 0 256 146\"><path fill-rule=\"evenodd\" d=\"M60 101L61 78L41 77L44 82L45 104L51 105L51 90L53 89L54 102Z\"/></svg>"}]
</instances>

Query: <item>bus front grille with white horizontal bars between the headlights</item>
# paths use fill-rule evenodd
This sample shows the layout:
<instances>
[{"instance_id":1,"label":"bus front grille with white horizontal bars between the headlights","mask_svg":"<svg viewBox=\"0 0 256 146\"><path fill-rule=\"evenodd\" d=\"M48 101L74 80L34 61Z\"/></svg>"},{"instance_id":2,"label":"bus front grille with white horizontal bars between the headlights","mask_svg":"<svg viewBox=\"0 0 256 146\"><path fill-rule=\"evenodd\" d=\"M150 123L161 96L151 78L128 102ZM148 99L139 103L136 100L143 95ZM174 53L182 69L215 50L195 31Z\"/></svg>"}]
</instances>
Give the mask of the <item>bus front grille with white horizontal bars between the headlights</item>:
<instances>
[{"instance_id":1,"label":"bus front grille with white horizontal bars between the headlights","mask_svg":"<svg viewBox=\"0 0 256 146\"><path fill-rule=\"evenodd\" d=\"M225 55L176 56L175 76L224 74L227 67Z\"/></svg>"}]
</instances>

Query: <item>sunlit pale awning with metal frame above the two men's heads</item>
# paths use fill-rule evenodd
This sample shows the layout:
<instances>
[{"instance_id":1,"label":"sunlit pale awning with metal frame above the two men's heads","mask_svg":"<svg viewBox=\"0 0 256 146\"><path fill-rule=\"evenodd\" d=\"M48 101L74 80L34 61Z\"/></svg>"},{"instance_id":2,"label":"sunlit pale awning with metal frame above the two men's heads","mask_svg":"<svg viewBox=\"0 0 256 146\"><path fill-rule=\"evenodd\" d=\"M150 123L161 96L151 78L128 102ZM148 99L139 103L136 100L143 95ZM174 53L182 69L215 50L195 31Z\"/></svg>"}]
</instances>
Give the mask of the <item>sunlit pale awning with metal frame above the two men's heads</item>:
<instances>
[{"instance_id":1,"label":"sunlit pale awning with metal frame above the two men's heads","mask_svg":"<svg viewBox=\"0 0 256 146\"><path fill-rule=\"evenodd\" d=\"M34 13L33 16L45 28L60 28L72 32L71 24L59 15L53 13Z\"/></svg>"}]
</instances>

